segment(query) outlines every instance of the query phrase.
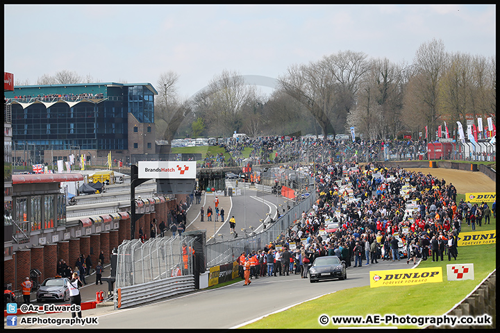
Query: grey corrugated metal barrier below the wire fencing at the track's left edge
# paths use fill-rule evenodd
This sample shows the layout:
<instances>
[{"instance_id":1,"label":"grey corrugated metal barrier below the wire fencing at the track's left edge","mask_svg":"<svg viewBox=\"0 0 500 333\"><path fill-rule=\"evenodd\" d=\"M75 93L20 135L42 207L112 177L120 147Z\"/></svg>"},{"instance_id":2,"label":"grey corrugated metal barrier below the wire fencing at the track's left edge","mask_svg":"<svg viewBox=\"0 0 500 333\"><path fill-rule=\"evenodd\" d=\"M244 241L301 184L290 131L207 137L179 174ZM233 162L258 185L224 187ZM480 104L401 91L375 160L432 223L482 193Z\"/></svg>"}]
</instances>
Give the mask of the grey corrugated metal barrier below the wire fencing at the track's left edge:
<instances>
[{"instance_id":1,"label":"grey corrugated metal barrier below the wire fencing at the track's left edge","mask_svg":"<svg viewBox=\"0 0 500 333\"><path fill-rule=\"evenodd\" d=\"M115 292L115 309L134 307L189 291L194 291L194 275L176 276L123 287Z\"/></svg>"}]
</instances>

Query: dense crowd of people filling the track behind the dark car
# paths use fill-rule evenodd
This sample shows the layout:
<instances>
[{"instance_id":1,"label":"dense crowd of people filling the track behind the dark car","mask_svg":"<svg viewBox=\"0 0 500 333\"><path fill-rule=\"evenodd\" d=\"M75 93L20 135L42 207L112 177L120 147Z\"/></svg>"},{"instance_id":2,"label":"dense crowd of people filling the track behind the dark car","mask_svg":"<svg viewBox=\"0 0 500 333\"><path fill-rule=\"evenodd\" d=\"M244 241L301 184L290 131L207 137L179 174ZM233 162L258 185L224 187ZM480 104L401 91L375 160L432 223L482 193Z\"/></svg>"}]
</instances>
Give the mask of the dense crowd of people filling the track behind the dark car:
<instances>
[{"instance_id":1,"label":"dense crowd of people filling the track behind the dark car","mask_svg":"<svg viewBox=\"0 0 500 333\"><path fill-rule=\"evenodd\" d=\"M465 200L457 204L453 184L430 173L375 164L361 168L356 162L317 163L314 172L313 207L276 241L242 253L242 278L247 262L249 279L289 273L306 278L310 264L324 255L337 255L353 268L403 256L407 264L456 260L462 226L476 230L496 216L496 202L491 208ZM338 228L324 232L328 223Z\"/></svg>"}]
</instances>

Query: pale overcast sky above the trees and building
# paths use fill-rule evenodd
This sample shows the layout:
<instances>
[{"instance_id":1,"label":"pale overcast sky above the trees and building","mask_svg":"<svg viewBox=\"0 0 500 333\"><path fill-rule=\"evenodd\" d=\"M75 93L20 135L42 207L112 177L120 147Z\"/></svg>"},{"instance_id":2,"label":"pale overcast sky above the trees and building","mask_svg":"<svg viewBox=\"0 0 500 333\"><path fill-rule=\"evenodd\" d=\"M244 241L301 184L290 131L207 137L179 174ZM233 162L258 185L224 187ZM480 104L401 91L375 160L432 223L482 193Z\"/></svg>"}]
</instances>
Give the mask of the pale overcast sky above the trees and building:
<instances>
[{"instance_id":1,"label":"pale overcast sky above the trees and building","mask_svg":"<svg viewBox=\"0 0 500 333\"><path fill-rule=\"evenodd\" d=\"M496 57L495 5L4 5L4 24L4 69L15 80L34 85L66 69L156 86L174 71L186 98L224 69L265 86L339 51L412 63L433 38L449 52Z\"/></svg>"}]
</instances>

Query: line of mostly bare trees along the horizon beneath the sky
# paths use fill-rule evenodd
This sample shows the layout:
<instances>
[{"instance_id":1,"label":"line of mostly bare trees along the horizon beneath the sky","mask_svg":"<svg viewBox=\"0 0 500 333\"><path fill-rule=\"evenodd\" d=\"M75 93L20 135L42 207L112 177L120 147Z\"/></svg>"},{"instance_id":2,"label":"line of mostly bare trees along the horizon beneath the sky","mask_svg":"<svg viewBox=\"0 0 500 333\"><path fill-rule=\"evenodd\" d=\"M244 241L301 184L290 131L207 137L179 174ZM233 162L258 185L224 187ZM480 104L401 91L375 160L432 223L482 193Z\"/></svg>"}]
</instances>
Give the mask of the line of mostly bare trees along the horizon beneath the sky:
<instances>
[{"instance_id":1,"label":"line of mostly bare trees along the horizon beneath the sky","mask_svg":"<svg viewBox=\"0 0 500 333\"><path fill-rule=\"evenodd\" d=\"M205 89L181 98L179 76L160 74L155 86L157 139L228 137L234 132L260 135L336 135L349 133L377 140L408 132L414 138L428 126L428 139L444 121L451 135L457 121L494 117L496 59L449 53L442 40L424 42L412 64L339 51L307 64L292 64L276 78L267 96L225 69ZM90 83L88 75L60 71L37 84ZM422 135L424 138L424 134Z\"/></svg>"}]
</instances>

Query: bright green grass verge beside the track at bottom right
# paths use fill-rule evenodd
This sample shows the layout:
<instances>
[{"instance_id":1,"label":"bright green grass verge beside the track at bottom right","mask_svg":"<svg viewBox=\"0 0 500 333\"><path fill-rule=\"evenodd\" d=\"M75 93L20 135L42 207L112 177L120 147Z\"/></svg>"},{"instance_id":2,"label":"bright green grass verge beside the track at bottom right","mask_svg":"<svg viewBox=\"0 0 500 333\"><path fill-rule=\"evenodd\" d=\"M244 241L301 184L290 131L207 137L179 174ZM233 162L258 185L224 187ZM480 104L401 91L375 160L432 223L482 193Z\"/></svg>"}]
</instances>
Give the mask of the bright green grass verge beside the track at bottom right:
<instances>
[{"instance_id":1,"label":"bright green grass verge beside the track at bottom right","mask_svg":"<svg viewBox=\"0 0 500 333\"><path fill-rule=\"evenodd\" d=\"M457 196L457 201L460 201ZM484 222L484 221L483 221ZM491 219L490 225L476 227L479 230L496 230L497 221ZM471 232L472 228L467 223L462 224L462 232ZM260 321L245 325L242 328L338 328L338 325L319 324L319 316L362 316L367 314L396 314L398 316L440 316L449 311L454 305L467 296L488 274L496 267L496 244L463 246L458 248L458 259L448 261L447 256L443 262L432 262L431 259L422 261L419 268L442 267L446 276L446 265L450 263L474 264L474 280L447 281L417 284L404 287L378 287L371 289L369 286L345 289L322 296L316 300L304 302L301 305L272 314ZM349 276L349 273L347 274ZM325 282L324 282L325 283ZM326 282L329 283L329 282ZM333 281L331 283L337 283ZM307 286L306 286L307 287ZM366 326L366 325L363 325ZM381 325L383 326L383 325ZM345 327L345 326L344 326ZM356 327L356 326L352 326ZM376 327L374 325L373 327ZM422 328L417 325L399 325L400 328Z\"/></svg>"}]
</instances>

